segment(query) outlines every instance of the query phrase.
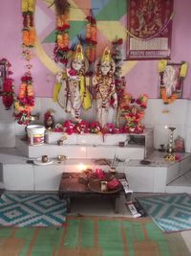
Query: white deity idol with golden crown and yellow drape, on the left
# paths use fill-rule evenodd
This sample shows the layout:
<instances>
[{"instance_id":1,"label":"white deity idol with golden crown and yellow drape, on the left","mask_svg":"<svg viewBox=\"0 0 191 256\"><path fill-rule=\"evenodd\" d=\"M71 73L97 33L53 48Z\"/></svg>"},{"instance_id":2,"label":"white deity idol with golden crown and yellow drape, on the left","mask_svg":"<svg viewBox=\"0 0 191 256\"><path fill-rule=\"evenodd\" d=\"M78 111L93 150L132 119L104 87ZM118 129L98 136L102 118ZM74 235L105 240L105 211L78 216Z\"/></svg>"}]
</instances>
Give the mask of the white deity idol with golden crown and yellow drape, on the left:
<instances>
[{"instance_id":1,"label":"white deity idol with golden crown and yellow drape, on the left","mask_svg":"<svg viewBox=\"0 0 191 256\"><path fill-rule=\"evenodd\" d=\"M74 56L67 64L67 76L57 96L57 102L66 112L71 113L75 121L80 122L81 108L92 106L91 96L85 84L85 72L88 62L83 56L82 46L77 45Z\"/></svg>"}]
</instances>

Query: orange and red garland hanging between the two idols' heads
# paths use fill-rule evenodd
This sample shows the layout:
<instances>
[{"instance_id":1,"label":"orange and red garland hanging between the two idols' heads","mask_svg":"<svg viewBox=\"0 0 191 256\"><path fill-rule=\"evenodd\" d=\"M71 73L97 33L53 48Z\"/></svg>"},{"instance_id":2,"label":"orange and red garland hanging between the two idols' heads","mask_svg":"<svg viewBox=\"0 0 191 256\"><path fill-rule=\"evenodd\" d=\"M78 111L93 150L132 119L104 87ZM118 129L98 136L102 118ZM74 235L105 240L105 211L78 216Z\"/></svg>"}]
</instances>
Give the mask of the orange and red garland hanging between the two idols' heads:
<instances>
[{"instance_id":1,"label":"orange and red garland hanging between the two idols' heads","mask_svg":"<svg viewBox=\"0 0 191 256\"><path fill-rule=\"evenodd\" d=\"M93 75L93 63L96 60L96 18L92 9L90 10L90 14L86 17L88 23L86 25L86 58L89 61L89 71L87 73L88 76Z\"/></svg>"}]
</instances>

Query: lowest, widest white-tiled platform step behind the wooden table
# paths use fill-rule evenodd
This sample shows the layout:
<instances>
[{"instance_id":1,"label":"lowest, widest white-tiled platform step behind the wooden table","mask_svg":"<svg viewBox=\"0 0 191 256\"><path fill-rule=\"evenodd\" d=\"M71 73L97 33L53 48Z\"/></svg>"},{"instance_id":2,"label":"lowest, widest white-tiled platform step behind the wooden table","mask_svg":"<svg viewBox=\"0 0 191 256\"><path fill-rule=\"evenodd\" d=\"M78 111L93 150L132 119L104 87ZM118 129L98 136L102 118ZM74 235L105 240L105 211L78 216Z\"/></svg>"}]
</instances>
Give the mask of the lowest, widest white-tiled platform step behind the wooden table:
<instances>
[{"instance_id":1,"label":"lowest, widest white-tiled platform step behind the wooden table","mask_svg":"<svg viewBox=\"0 0 191 256\"><path fill-rule=\"evenodd\" d=\"M150 193L191 193L191 175L186 183L179 186L178 177L188 175L191 170L191 153L182 153L180 162L168 162L163 154L155 151L149 157L150 165L142 165L140 161L129 160L120 162L117 171L124 172L134 192ZM28 157L17 149L0 149L2 181L6 190L57 191L60 176L63 172L80 172L84 168L101 168L109 171L109 166L97 164L97 159L73 158L58 163L37 166L27 163Z\"/></svg>"}]
</instances>

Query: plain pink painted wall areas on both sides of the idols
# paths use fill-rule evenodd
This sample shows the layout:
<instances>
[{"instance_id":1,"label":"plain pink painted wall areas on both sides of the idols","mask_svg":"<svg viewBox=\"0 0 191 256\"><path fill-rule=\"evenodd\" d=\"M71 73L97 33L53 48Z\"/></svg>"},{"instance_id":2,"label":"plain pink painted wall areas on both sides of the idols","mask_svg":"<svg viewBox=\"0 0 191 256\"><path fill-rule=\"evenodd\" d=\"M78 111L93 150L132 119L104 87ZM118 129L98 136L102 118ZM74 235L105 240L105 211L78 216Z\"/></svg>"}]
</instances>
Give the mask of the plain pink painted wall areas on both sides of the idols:
<instances>
[{"instance_id":1,"label":"plain pink painted wall areas on both sides of the idols","mask_svg":"<svg viewBox=\"0 0 191 256\"><path fill-rule=\"evenodd\" d=\"M191 1L174 0L174 19L172 36L172 62L186 60L191 63ZM8 58L12 64L17 92L20 78L24 74L22 59L21 29L22 17L20 1L2 0L0 8L0 58ZM52 97L54 78L51 72L38 58L32 60L32 77L34 80L35 95L38 97ZM183 98L191 98L190 84L191 71L184 81ZM157 74L157 61L138 61L138 64L126 76L127 90L137 97L140 93L147 93L150 98L158 98L159 81Z\"/></svg>"}]
</instances>

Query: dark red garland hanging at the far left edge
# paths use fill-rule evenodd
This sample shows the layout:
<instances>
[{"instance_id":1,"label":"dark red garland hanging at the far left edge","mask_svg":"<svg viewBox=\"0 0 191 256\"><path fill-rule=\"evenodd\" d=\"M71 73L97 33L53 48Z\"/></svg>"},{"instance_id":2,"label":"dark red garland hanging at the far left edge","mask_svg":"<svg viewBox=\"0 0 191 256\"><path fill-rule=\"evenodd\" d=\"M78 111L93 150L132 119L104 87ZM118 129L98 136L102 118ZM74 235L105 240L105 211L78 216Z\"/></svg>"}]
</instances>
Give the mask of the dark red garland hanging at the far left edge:
<instances>
[{"instance_id":1,"label":"dark red garland hanging at the far left edge","mask_svg":"<svg viewBox=\"0 0 191 256\"><path fill-rule=\"evenodd\" d=\"M14 86L12 84L11 74L11 63L7 58L0 59L0 95L2 96L3 105L5 105L6 110L11 109L14 98Z\"/></svg>"}]
</instances>

